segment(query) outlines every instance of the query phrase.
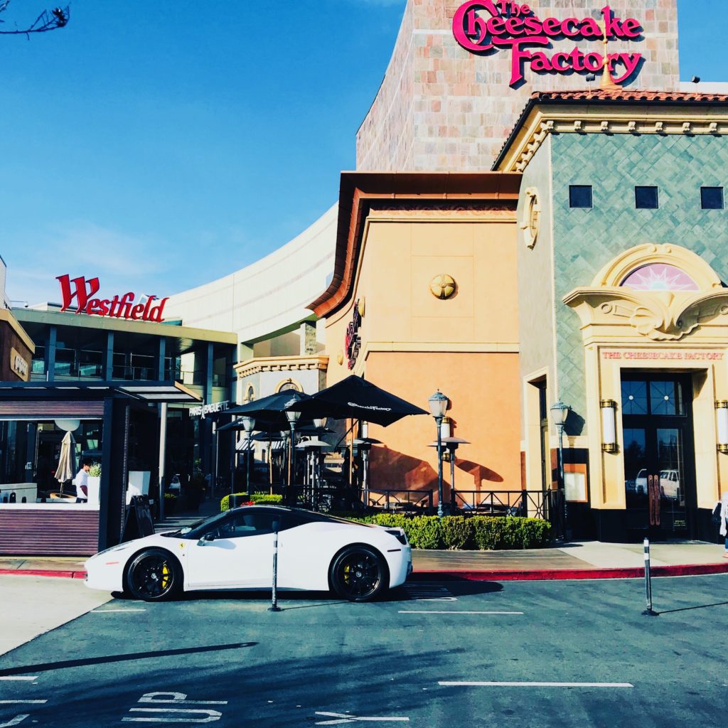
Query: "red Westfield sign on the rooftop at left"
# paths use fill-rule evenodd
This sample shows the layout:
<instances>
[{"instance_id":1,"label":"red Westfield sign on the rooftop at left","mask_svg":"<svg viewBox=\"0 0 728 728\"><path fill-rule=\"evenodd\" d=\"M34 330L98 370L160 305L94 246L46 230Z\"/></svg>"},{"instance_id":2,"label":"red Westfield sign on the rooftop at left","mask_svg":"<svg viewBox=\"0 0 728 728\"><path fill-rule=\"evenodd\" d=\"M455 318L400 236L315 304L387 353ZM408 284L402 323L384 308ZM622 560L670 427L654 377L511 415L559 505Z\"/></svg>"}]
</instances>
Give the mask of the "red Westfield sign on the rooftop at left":
<instances>
[{"instance_id":1,"label":"red Westfield sign on the rooftop at left","mask_svg":"<svg viewBox=\"0 0 728 728\"><path fill-rule=\"evenodd\" d=\"M60 282L60 295L63 297L61 311L76 306L77 314L92 316L109 316L113 318L131 319L134 321L154 321L162 323L162 312L169 298L146 296L146 301L136 303L135 295L131 291L123 296L114 298L100 298L96 296L100 289L98 278L84 277L71 278L67 275L58 276ZM156 305L154 301L158 301Z\"/></svg>"}]
</instances>

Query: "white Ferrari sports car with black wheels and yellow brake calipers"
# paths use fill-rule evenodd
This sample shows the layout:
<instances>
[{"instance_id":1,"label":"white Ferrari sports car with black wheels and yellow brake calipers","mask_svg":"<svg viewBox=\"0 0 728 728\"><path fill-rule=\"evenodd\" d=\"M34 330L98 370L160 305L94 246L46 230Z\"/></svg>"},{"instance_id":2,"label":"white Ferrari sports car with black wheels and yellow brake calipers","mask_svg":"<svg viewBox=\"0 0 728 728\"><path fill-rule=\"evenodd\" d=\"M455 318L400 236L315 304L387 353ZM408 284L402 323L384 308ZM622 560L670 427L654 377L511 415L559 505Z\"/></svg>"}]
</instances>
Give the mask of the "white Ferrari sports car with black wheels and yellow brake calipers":
<instances>
[{"instance_id":1,"label":"white Ferrari sports car with black wheels and yellow brake calipers","mask_svg":"<svg viewBox=\"0 0 728 728\"><path fill-rule=\"evenodd\" d=\"M349 601L367 601L403 584L412 571L403 529L260 505L101 551L86 562L86 585L146 601L182 590L269 589L276 533L280 590L331 589Z\"/></svg>"}]
</instances>

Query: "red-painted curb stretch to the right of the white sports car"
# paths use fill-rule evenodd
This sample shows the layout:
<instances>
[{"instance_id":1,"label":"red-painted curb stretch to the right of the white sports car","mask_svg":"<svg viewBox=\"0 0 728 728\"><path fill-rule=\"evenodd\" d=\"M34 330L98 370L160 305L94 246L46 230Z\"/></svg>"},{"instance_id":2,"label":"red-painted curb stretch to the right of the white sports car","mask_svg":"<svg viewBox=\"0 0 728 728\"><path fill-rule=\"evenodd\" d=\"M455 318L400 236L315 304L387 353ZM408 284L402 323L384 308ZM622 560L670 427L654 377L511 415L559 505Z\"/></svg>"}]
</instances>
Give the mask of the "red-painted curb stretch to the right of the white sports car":
<instances>
[{"instance_id":1,"label":"red-painted curb stretch to the right of the white sports car","mask_svg":"<svg viewBox=\"0 0 728 728\"><path fill-rule=\"evenodd\" d=\"M728 563L682 564L653 566L653 577L687 577L703 574L727 574ZM440 579L441 581L547 581L558 579L644 579L644 569L534 569L531 571L415 571L411 581Z\"/></svg>"}]
</instances>

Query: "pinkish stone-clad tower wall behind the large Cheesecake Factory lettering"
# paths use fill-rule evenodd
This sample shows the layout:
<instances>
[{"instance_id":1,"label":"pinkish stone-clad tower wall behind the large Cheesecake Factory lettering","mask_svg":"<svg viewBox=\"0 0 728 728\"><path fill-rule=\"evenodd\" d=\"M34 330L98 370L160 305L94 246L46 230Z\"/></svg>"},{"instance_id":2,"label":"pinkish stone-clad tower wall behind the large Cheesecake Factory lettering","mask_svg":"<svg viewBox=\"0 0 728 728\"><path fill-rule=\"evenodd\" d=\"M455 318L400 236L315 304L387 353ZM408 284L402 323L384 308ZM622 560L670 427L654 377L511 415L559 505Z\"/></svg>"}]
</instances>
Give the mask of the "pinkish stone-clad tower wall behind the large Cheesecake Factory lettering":
<instances>
[{"instance_id":1,"label":"pinkish stone-clad tower wall behind the large Cheesecake Factory lettering","mask_svg":"<svg viewBox=\"0 0 728 728\"><path fill-rule=\"evenodd\" d=\"M357 133L360 170L488 170L534 91L585 88L582 74L536 74L509 86L510 50L474 55L459 46L452 17L462 0L408 0L387 75ZM538 17L600 17L606 0L534 0ZM631 87L678 90L677 0L612 0L614 15L635 17L642 41L612 41L609 52L640 52ZM600 41L564 39L552 56L603 50ZM599 77L595 87L598 86Z\"/></svg>"}]
</instances>

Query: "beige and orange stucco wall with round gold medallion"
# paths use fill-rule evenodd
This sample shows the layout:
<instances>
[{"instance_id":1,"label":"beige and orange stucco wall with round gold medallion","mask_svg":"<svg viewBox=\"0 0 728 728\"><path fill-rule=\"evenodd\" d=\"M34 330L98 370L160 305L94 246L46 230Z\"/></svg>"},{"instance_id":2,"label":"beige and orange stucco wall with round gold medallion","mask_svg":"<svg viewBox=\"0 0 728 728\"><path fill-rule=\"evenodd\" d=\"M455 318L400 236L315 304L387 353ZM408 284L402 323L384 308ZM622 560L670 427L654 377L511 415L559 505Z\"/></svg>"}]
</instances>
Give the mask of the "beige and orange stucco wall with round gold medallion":
<instances>
[{"instance_id":1,"label":"beige and orange stucco wall with round gold medallion","mask_svg":"<svg viewBox=\"0 0 728 728\"><path fill-rule=\"evenodd\" d=\"M440 300L430 281L449 274L456 296ZM328 320L328 384L348 376L344 336L354 301L364 301L353 373L427 409L440 388L451 399L459 450L456 485L521 487L515 214L373 213L352 301ZM338 357L342 355L342 363ZM431 417L371 426L385 444L372 454L373 488L436 486ZM446 472L449 483L449 472Z\"/></svg>"}]
</instances>

